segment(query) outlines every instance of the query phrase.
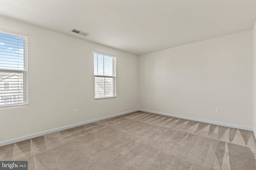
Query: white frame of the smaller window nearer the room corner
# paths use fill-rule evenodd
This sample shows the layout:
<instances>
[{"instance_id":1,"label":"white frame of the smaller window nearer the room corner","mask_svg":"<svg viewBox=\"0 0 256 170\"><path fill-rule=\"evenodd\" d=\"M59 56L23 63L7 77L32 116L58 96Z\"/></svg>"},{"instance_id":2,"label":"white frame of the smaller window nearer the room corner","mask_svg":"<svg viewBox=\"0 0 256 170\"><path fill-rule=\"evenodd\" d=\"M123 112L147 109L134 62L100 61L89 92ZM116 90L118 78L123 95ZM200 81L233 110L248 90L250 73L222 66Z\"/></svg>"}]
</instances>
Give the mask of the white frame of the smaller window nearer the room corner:
<instances>
[{"instance_id":1,"label":"white frame of the smaller window nearer the room corner","mask_svg":"<svg viewBox=\"0 0 256 170\"><path fill-rule=\"evenodd\" d=\"M95 74L95 70L94 70L94 100L101 100L101 99L109 99L109 98L116 98L116 57L114 57L113 55L111 54L106 54L106 53L102 53L102 52L98 52L98 51L94 51L94 55L96 54L99 54L99 55L103 55L103 56L106 56L106 57L111 57L113 59L113 62L112 62L112 76L109 76L109 75L96 75ZM94 65L95 65L95 60L94 60ZM114 95L113 96L110 96L110 97L99 97L99 98L96 98L96 78L104 78L104 83L106 82L105 78L113 78L113 88L114 88ZM106 95L106 87L104 87L104 95Z\"/></svg>"}]
</instances>

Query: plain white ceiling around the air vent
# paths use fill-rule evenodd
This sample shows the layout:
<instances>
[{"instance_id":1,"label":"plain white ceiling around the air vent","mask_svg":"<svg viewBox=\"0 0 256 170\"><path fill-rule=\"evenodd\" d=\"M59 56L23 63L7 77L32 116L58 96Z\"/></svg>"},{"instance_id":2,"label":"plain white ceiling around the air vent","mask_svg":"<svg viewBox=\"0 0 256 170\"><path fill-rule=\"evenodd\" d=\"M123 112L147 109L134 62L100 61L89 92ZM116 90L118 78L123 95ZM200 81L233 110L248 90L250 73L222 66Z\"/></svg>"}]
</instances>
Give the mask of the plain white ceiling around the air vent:
<instances>
[{"instance_id":1,"label":"plain white ceiling around the air vent","mask_svg":"<svg viewBox=\"0 0 256 170\"><path fill-rule=\"evenodd\" d=\"M0 0L0 15L141 55L253 29L256 0Z\"/></svg>"}]
</instances>

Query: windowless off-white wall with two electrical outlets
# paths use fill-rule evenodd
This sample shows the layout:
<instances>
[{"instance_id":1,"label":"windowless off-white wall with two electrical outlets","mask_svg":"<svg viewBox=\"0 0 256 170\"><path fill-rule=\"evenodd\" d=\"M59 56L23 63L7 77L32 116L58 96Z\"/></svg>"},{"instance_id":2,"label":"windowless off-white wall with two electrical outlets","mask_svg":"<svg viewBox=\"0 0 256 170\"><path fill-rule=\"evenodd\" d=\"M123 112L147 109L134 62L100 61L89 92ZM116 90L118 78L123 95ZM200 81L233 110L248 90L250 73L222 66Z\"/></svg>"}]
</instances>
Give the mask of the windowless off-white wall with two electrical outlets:
<instances>
[{"instance_id":1,"label":"windowless off-white wall with two electrical outlets","mask_svg":"<svg viewBox=\"0 0 256 170\"><path fill-rule=\"evenodd\" d=\"M140 55L139 108L252 128L252 36L243 31Z\"/></svg>"}]
</instances>

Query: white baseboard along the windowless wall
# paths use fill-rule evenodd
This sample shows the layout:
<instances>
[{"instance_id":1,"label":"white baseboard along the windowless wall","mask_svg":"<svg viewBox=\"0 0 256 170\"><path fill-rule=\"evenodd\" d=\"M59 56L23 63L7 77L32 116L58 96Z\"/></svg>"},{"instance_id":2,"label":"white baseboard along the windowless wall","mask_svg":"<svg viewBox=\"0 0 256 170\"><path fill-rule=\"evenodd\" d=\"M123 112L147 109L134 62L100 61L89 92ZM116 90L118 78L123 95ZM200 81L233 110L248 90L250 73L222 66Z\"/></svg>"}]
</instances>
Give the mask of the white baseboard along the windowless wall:
<instances>
[{"instance_id":1,"label":"white baseboard along the windowless wall","mask_svg":"<svg viewBox=\"0 0 256 170\"><path fill-rule=\"evenodd\" d=\"M214 125L221 125L221 126L226 126L226 127L233 127L233 128L237 128L237 129L253 131L253 128L251 128L251 127L232 125L232 124L228 124L228 123L220 123L220 122L217 122L217 121L209 121L209 120L204 120L204 119L196 119L196 118L186 117L186 116L172 115L172 114L168 114L168 113L161 113L161 112L157 112L157 111L150 111L150 110L144 110L144 109L138 109L138 110L149 112L149 113L155 113L155 114L159 114L159 115L177 117L177 118L181 118L181 119L188 119L188 120L193 120L193 121L200 121L200 122L204 122L204 123L210 123L210 124L214 124ZM254 137L255 137L255 134L254 134Z\"/></svg>"}]
</instances>

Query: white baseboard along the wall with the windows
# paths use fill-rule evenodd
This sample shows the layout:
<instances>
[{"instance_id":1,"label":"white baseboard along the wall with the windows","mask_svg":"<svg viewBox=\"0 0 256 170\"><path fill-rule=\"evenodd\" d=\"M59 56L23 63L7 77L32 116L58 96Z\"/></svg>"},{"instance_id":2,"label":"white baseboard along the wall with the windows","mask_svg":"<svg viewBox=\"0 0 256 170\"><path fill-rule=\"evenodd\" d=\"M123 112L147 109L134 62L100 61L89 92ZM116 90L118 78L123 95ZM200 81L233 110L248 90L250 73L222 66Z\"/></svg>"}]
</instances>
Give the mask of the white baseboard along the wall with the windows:
<instances>
[{"instance_id":1,"label":"white baseboard along the wall with the windows","mask_svg":"<svg viewBox=\"0 0 256 170\"><path fill-rule=\"evenodd\" d=\"M32 138L39 137L39 136L42 136L42 135L47 135L47 134L50 134L50 133L54 133L54 132L58 132L58 131L63 131L63 130L70 129L70 128L73 128L73 127L86 125L88 123L93 123L93 122L96 122L96 121L101 121L101 120L104 120L104 119L109 119L109 118L120 116L120 115L124 115L124 114L127 114L127 113L132 113L132 112L138 111L138 110L139 109L130 110L130 111L126 111L126 112L123 112L123 113L118 113L118 114L115 114L115 115L110 115L110 116L106 116L106 117L102 117L102 118L98 118L98 119L94 119L94 120L90 120L90 121L84 121L84 122L76 123L76 124L73 124L73 125L68 125L68 126L59 127L59 128L56 128L56 129L51 129L51 130L48 130L48 131L34 133L34 134L31 134L31 135L26 135L26 136L23 136L23 137L17 137L17 138L9 139L9 140L6 140L6 141L1 141L0 142L0 147L2 147L4 145L9 145L9 144L12 144L12 143L24 141L24 140L27 140L27 139L32 139Z\"/></svg>"}]
</instances>

